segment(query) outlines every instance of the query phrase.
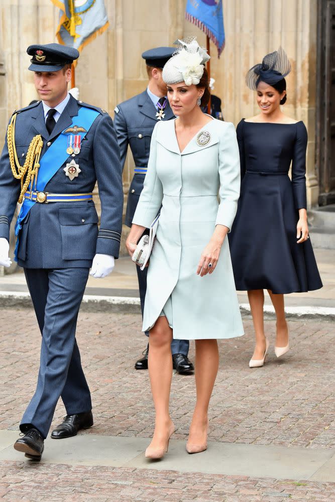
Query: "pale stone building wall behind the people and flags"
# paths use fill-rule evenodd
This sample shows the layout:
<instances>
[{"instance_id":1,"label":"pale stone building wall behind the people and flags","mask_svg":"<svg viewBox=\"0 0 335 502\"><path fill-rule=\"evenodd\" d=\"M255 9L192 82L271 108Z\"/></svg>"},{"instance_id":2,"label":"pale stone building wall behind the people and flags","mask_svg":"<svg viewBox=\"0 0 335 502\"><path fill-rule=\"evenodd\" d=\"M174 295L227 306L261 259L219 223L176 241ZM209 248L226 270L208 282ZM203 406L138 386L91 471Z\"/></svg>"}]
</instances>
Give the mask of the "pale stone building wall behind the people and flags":
<instances>
[{"instance_id":1,"label":"pale stone building wall behind the people and flags","mask_svg":"<svg viewBox=\"0 0 335 502\"><path fill-rule=\"evenodd\" d=\"M146 87L144 50L171 45L189 35L196 35L205 45L205 36L184 20L186 0L107 0L105 4L110 27L84 48L76 68L76 85L80 99L107 109L113 116L116 104ZM254 93L244 82L249 67L280 44L288 53L293 71L287 78L285 111L304 120L308 129L309 205L316 203L318 195L314 167L316 4L317 0L224 0L226 48L220 59L211 44L214 93L224 103L225 119L235 124L257 113ZM27 70L26 48L32 43L56 41L58 9L50 0L0 0L0 17L0 62L3 57L6 72L0 75L3 135L13 109L37 97ZM0 65L0 73L2 68ZM128 157L125 193L134 167Z\"/></svg>"}]
</instances>

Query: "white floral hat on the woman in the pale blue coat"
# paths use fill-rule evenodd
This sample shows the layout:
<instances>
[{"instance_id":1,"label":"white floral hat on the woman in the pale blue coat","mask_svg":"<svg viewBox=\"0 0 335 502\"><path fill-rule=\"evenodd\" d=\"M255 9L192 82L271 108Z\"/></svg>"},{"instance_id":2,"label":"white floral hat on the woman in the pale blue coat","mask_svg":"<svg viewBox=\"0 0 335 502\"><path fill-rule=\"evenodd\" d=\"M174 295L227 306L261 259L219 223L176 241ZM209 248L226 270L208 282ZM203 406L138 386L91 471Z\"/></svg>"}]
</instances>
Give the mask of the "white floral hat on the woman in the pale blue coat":
<instances>
[{"instance_id":1,"label":"white floral hat on the woman in the pale blue coat","mask_svg":"<svg viewBox=\"0 0 335 502\"><path fill-rule=\"evenodd\" d=\"M166 84L185 82L186 85L197 85L210 56L199 46L195 38L176 40L174 45L177 44L176 52L164 65L163 80Z\"/></svg>"}]
</instances>

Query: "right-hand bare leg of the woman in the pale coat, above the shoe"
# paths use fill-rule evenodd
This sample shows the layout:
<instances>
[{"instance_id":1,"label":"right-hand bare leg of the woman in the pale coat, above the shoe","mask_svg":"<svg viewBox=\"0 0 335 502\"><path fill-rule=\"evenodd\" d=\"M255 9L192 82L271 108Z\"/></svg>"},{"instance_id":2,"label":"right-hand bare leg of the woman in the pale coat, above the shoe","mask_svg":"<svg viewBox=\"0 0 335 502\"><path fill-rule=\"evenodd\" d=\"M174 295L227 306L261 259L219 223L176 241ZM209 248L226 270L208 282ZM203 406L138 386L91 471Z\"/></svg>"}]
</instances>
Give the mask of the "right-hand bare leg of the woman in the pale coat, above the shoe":
<instances>
[{"instance_id":1,"label":"right-hand bare leg of the woman in the pale coat, above the shoe","mask_svg":"<svg viewBox=\"0 0 335 502\"><path fill-rule=\"evenodd\" d=\"M218 369L216 340L195 340L196 404L189 431L188 442L195 445L206 443L208 406Z\"/></svg>"}]
</instances>

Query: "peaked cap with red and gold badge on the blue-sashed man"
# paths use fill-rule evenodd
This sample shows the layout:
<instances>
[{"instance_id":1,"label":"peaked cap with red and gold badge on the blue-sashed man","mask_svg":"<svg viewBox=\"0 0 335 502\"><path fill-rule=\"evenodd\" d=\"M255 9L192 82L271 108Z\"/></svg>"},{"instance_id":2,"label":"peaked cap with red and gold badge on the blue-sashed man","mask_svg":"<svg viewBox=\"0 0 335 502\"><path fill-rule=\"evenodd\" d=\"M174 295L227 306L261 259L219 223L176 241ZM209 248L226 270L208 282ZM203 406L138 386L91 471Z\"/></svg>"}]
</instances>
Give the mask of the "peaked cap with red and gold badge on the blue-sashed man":
<instances>
[{"instance_id":1,"label":"peaked cap with red and gold badge on the blue-sashed man","mask_svg":"<svg viewBox=\"0 0 335 502\"><path fill-rule=\"evenodd\" d=\"M77 49L60 44L30 45L27 53L33 56L31 71L59 71L79 57Z\"/></svg>"}]
</instances>

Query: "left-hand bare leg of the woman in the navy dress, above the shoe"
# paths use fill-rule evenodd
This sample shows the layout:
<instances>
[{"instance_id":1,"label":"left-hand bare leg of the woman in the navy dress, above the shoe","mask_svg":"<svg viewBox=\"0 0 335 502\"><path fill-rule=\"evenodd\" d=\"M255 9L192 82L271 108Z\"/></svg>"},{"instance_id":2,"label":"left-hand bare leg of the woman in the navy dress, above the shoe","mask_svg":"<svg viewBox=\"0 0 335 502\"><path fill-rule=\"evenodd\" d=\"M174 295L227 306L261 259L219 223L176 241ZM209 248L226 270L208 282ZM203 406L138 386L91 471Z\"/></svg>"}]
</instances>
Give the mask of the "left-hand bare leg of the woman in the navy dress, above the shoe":
<instances>
[{"instance_id":1,"label":"left-hand bare leg of the woman in the navy dress, above the shoe","mask_svg":"<svg viewBox=\"0 0 335 502\"><path fill-rule=\"evenodd\" d=\"M264 333L264 291L262 289L254 289L248 291L251 315L253 317L256 346L252 359L263 359L266 349L266 340Z\"/></svg>"}]
</instances>

